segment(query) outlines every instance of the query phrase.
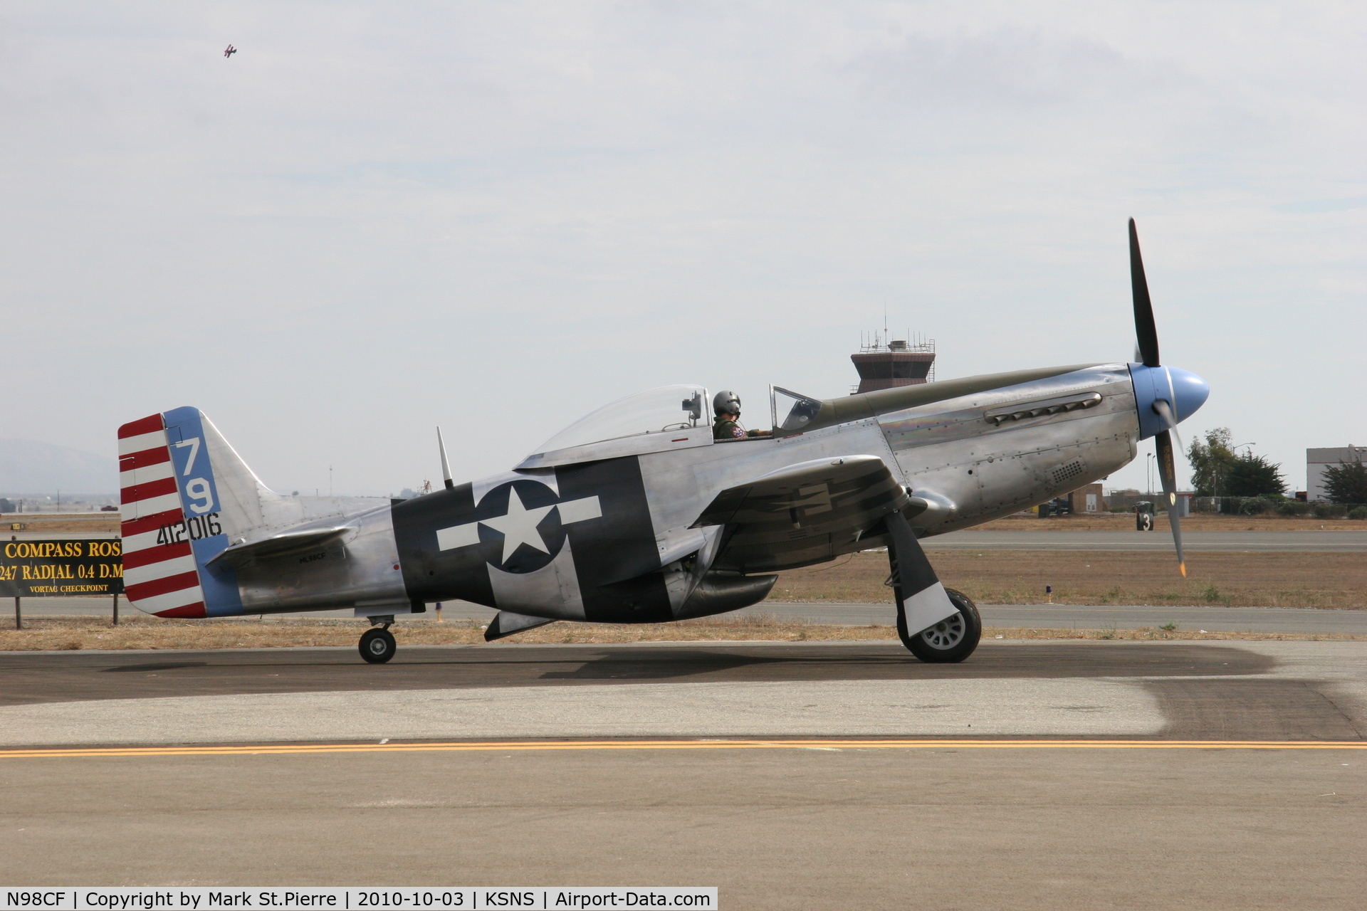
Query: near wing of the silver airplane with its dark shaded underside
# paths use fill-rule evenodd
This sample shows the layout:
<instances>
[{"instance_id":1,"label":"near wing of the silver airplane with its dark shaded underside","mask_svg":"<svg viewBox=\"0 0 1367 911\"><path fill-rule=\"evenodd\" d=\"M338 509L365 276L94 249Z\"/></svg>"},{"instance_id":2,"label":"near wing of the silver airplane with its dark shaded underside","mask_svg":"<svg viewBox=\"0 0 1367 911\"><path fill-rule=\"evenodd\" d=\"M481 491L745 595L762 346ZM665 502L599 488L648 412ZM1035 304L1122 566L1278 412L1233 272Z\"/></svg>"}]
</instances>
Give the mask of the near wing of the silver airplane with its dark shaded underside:
<instances>
[{"instance_id":1,"label":"near wing of the silver airplane with its dark shaded underside","mask_svg":"<svg viewBox=\"0 0 1367 911\"><path fill-rule=\"evenodd\" d=\"M712 568L772 572L858 550L908 501L878 456L813 459L722 490L692 527L725 527Z\"/></svg>"}]
</instances>

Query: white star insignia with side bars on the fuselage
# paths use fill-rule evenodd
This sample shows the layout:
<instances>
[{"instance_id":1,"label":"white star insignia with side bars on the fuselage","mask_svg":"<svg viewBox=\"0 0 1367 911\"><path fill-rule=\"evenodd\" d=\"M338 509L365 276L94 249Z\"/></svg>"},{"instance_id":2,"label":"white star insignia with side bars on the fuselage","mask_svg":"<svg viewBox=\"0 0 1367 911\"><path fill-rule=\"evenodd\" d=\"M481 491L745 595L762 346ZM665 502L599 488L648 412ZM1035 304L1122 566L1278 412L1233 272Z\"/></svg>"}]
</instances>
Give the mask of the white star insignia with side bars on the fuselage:
<instances>
[{"instance_id":1,"label":"white star insignia with side bars on the fuselage","mask_svg":"<svg viewBox=\"0 0 1367 911\"><path fill-rule=\"evenodd\" d=\"M491 489L476 507L480 518L439 529L439 550L484 545L484 559L504 572L534 572L565 546L565 526L603 515L597 497L560 501L540 481L518 479Z\"/></svg>"}]
</instances>

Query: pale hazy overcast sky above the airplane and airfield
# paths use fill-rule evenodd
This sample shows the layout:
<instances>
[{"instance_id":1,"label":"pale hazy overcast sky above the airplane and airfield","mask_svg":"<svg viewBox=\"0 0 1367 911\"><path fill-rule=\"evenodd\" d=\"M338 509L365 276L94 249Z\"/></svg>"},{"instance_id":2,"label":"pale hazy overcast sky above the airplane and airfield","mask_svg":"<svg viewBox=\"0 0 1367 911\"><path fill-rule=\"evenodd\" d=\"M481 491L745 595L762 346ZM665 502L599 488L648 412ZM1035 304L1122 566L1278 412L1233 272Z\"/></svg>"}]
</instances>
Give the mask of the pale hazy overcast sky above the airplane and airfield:
<instances>
[{"instance_id":1,"label":"pale hazy overcast sky above the airplane and airfield","mask_svg":"<svg viewBox=\"0 0 1367 911\"><path fill-rule=\"evenodd\" d=\"M0 436L112 455L194 404L276 489L387 493L439 481L436 423L470 478L653 385L842 395L884 307L940 378L1126 361L1135 216L1163 361L1213 389L1188 441L1229 426L1299 488L1305 447L1367 444L1364 33L1362 3L10 0Z\"/></svg>"}]
</instances>

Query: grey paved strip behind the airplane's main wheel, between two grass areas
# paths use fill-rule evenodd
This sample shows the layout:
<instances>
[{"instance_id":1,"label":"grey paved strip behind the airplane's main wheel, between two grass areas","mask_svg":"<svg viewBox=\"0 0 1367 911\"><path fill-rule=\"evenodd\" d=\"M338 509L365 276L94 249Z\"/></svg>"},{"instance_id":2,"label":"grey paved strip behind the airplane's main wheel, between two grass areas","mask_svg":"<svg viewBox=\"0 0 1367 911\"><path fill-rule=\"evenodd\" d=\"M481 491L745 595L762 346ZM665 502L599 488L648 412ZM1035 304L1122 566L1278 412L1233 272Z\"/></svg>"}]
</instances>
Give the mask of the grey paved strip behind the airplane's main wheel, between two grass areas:
<instances>
[{"instance_id":1,"label":"grey paved strip behind the airplane's main wheel, between two grass areas","mask_svg":"<svg viewBox=\"0 0 1367 911\"><path fill-rule=\"evenodd\" d=\"M0 611L12 604L0 601ZM1308 632L1367 635L1367 611L1321 611L1315 608L1202 608L1150 605L1044 605L1044 604L980 604L983 624L991 627L1061 628L1061 630L1137 630L1176 623L1180 630L1207 630L1210 632ZM122 617L142 616L120 598ZM496 611L466 601L443 605L446 620L478 620L488 623ZM111 616L109 598L26 598L23 615L49 616ZM895 619L889 604L831 604L763 601L753 608L725 615L723 619L772 615L782 620L805 620L822 624L891 626ZM350 617L347 611L320 611L316 613L279 615L288 617ZM429 608L424 619L436 612ZM0 613L4 617L4 613ZM247 620L254 623L256 620ZM0 619L3 623L3 619Z\"/></svg>"}]
</instances>

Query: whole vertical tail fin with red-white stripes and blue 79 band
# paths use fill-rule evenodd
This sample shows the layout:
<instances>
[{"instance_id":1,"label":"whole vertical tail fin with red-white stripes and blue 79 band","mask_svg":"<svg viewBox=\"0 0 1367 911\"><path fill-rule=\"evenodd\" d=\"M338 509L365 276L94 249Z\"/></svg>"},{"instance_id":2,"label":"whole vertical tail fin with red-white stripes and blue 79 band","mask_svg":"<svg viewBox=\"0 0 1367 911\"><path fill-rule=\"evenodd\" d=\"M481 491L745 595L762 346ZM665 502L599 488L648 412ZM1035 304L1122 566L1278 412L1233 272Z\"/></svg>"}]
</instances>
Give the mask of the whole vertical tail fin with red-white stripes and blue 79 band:
<instances>
[{"instance_id":1,"label":"whole vertical tail fin with red-white stripes and blue 79 band","mask_svg":"<svg viewBox=\"0 0 1367 911\"><path fill-rule=\"evenodd\" d=\"M279 500L198 408L175 408L119 428L123 585L160 617L242 613L231 568L205 564L234 534L264 524Z\"/></svg>"}]
</instances>

